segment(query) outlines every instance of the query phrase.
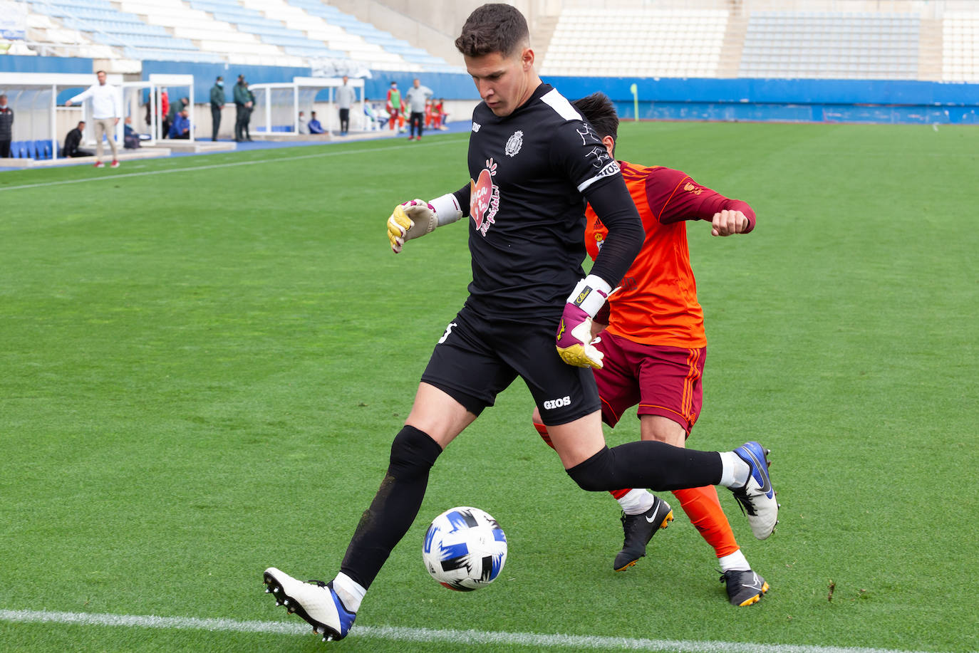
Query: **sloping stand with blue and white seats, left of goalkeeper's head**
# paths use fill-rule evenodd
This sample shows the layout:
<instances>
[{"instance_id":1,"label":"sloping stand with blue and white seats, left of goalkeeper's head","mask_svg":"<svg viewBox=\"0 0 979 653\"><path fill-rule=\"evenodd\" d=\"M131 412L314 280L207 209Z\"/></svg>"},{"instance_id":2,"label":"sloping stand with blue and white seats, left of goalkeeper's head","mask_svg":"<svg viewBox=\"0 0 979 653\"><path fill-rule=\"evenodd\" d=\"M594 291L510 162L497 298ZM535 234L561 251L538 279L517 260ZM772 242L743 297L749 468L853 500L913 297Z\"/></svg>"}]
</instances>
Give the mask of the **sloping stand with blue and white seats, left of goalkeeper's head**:
<instances>
[{"instance_id":1,"label":"sloping stand with blue and white seats, left of goalkeeper's head","mask_svg":"<svg viewBox=\"0 0 979 653\"><path fill-rule=\"evenodd\" d=\"M45 54L303 67L349 59L373 70L461 72L319 0L32 0ZM32 54L32 51L27 50Z\"/></svg>"}]
</instances>

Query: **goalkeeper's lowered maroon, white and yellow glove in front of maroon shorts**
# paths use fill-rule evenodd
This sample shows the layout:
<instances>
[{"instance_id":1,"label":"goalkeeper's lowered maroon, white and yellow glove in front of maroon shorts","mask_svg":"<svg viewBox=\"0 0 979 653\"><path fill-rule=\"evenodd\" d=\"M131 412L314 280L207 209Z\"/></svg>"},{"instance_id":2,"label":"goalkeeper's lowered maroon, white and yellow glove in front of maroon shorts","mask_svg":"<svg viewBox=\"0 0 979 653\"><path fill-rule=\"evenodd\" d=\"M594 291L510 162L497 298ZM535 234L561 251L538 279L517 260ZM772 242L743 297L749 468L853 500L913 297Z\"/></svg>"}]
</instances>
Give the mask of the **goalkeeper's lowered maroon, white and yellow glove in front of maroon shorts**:
<instances>
[{"instance_id":1,"label":"goalkeeper's lowered maroon, white and yellow glove in front of maroon shorts","mask_svg":"<svg viewBox=\"0 0 979 653\"><path fill-rule=\"evenodd\" d=\"M575 287L561 313L557 329L557 352L569 365L601 368L602 354L591 337L591 318L612 293L601 277L589 274Z\"/></svg>"}]
</instances>

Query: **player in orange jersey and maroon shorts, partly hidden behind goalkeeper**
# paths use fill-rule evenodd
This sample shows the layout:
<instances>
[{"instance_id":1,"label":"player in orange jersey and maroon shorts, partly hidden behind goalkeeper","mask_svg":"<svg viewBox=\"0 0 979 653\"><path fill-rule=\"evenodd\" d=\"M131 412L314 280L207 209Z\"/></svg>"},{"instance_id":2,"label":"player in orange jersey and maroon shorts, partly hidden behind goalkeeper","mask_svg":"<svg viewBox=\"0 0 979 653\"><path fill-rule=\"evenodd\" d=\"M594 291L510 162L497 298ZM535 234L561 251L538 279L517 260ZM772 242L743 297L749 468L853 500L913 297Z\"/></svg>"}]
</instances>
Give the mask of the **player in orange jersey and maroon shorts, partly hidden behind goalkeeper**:
<instances>
[{"instance_id":1,"label":"player in orange jersey and maroon shorts, partly hidden behind goalkeeper","mask_svg":"<svg viewBox=\"0 0 979 653\"><path fill-rule=\"evenodd\" d=\"M612 102L595 93L574 105L614 157L619 117ZM747 234L755 227L755 211L679 170L619 164L646 237L620 288L609 297L608 313L595 317L599 325L592 332L597 335L594 346L604 354L604 365L593 370L602 419L615 426L627 409L638 404L642 440L683 446L700 414L707 353L704 311L697 302L697 284L690 268L686 222L710 222L714 236ZM607 230L590 207L585 218L585 246L594 258ZM603 322L607 326L601 330ZM550 444L536 410L534 422L544 442ZM769 584L752 571L741 552L717 490L705 487L673 493L694 527L714 546L728 600L738 606L757 602ZM673 511L648 490L615 490L612 495L623 508L625 532L623 549L613 567L624 571L645 555L646 544L658 528L673 521Z\"/></svg>"}]
</instances>

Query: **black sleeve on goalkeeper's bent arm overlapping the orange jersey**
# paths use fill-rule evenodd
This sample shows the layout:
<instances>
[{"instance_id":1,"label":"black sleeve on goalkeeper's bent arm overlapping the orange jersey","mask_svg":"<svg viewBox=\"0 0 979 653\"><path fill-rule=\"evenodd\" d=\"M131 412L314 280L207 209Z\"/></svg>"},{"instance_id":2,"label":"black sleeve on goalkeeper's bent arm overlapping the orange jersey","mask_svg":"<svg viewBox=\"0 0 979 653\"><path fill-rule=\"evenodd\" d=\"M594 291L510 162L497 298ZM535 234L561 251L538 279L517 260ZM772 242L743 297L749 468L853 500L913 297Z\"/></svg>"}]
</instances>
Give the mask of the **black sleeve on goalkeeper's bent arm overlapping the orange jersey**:
<instances>
[{"instance_id":1,"label":"black sleeve on goalkeeper's bent arm overlapping the orange jersey","mask_svg":"<svg viewBox=\"0 0 979 653\"><path fill-rule=\"evenodd\" d=\"M591 266L591 273L615 288L642 249L646 238L642 219L621 175L589 186L584 191L584 198L609 230L601 252Z\"/></svg>"}]
</instances>

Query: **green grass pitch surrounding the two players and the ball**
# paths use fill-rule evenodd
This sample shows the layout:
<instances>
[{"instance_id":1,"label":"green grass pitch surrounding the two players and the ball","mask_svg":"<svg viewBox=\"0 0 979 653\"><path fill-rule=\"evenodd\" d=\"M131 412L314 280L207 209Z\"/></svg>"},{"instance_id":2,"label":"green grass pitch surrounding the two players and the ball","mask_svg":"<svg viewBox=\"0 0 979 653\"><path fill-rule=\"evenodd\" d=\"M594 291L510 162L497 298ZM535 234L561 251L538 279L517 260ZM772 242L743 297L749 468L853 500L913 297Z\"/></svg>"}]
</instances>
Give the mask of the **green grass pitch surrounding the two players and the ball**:
<instances>
[{"instance_id":1,"label":"green grass pitch surrounding the two players and the ball","mask_svg":"<svg viewBox=\"0 0 979 653\"><path fill-rule=\"evenodd\" d=\"M2 614L299 623L261 572L331 578L377 489L469 280L463 225L394 256L384 221L461 186L466 140L0 174ZM772 449L774 536L756 541L722 490L768 596L729 606L678 508L650 554L613 573L617 506L567 477L518 382L443 454L357 625L722 653L979 649L977 153L967 127L623 124L620 158L683 169L758 212L747 237L688 225L710 341L689 444ZM607 435L637 432L627 417ZM510 541L478 592L443 589L421 563L428 521L453 505L488 510ZM0 620L5 651L324 647Z\"/></svg>"}]
</instances>

